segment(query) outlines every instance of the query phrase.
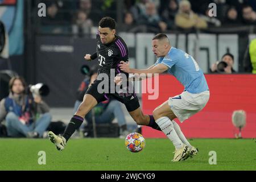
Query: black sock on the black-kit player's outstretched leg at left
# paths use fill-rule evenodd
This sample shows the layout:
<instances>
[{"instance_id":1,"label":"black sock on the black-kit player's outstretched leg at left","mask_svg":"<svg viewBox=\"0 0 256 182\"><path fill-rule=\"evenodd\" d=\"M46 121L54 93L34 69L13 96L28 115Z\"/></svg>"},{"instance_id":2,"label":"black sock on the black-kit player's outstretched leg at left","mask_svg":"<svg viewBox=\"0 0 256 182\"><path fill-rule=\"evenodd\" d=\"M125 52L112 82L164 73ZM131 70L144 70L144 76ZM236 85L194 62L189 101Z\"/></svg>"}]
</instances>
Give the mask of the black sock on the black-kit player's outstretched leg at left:
<instances>
[{"instance_id":1,"label":"black sock on the black-kit player's outstretched leg at left","mask_svg":"<svg viewBox=\"0 0 256 182\"><path fill-rule=\"evenodd\" d=\"M68 142L68 139L71 138L73 133L75 133L75 131L80 128L83 121L84 118L80 117L79 115L73 115L73 118L71 118L63 134L63 137L66 139L66 142Z\"/></svg>"}]
</instances>

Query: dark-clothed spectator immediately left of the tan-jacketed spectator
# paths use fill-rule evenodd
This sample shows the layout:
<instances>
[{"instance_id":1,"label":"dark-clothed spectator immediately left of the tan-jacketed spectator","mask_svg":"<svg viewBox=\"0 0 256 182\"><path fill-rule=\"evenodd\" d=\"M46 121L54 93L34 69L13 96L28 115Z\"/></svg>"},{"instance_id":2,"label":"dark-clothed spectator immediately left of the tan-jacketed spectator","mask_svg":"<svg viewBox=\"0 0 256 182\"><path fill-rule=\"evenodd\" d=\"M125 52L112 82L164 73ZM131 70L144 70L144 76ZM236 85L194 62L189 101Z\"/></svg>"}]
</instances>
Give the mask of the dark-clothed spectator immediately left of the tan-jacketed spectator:
<instances>
[{"instance_id":1,"label":"dark-clothed spectator immediately left of the tan-jacketed spectator","mask_svg":"<svg viewBox=\"0 0 256 182\"><path fill-rule=\"evenodd\" d=\"M163 10L162 18L167 23L167 28L170 30L175 27L174 19L178 11L176 0L169 0L168 6Z\"/></svg>"}]
</instances>

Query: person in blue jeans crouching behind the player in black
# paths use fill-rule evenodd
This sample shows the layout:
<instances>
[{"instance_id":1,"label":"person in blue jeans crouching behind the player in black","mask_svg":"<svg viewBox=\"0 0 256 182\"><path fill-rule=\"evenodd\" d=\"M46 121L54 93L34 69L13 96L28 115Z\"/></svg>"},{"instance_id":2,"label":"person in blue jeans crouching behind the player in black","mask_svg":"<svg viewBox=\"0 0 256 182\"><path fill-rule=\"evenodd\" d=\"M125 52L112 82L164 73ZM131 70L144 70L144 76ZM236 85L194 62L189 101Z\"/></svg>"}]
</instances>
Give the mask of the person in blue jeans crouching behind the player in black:
<instances>
[{"instance_id":1,"label":"person in blue jeans crouching behind the player in black","mask_svg":"<svg viewBox=\"0 0 256 182\"><path fill-rule=\"evenodd\" d=\"M92 68L92 71L90 73L90 76L85 76L84 80L81 82L79 89L77 90L77 100L75 102L74 106L74 113L81 104L84 94L86 90L89 88L89 86L94 82L94 80L97 79L97 69L96 67ZM120 128L120 138L126 137L129 132L127 131L127 125L126 125L126 119L125 115L122 110L122 106L119 101L112 100L111 98L109 100L106 100L104 102L98 103L94 108L94 118L95 122L97 123L112 123L112 121L117 118L117 122ZM93 115L92 110L85 115L85 120L88 123L88 126L92 126L93 122ZM81 127L85 127L82 125ZM81 129L80 127L80 129Z\"/></svg>"}]
</instances>

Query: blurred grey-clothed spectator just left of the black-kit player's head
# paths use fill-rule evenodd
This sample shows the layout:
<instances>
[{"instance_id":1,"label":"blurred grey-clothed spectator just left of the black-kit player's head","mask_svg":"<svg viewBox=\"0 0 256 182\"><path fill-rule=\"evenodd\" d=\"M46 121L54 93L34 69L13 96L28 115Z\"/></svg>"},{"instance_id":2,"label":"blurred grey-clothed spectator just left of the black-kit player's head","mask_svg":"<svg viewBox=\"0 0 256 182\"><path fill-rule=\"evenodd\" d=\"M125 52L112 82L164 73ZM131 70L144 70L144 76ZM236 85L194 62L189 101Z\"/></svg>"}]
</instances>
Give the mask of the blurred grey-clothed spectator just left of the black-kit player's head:
<instances>
[{"instance_id":1,"label":"blurred grey-clothed spectator just left of the black-kit player's head","mask_svg":"<svg viewBox=\"0 0 256 182\"><path fill-rule=\"evenodd\" d=\"M75 23L72 25L73 34L80 36L90 34L92 27L92 20L88 19L88 16L84 11L79 10L76 14Z\"/></svg>"}]
</instances>

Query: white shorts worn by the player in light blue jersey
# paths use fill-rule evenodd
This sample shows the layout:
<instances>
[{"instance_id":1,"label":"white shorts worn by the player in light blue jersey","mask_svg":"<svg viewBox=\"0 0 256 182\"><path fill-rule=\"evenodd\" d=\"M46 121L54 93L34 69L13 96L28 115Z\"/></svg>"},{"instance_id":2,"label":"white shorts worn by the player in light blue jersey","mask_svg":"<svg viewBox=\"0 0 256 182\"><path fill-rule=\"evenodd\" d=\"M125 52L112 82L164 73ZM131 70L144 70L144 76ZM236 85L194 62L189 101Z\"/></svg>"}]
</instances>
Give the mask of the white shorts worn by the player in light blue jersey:
<instances>
[{"instance_id":1,"label":"white shorts worn by the player in light blue jersey","mask_svg":"<svg viewBox=\"0 0 256 182\"><path fill-rule=\"evenodd\" d=\"M209 98L209 90L196 94L185 91L180 95L170 97L168 105L179 121L183 122L185 119L202 110L209 101Z\"/></svg>"}]
</instances>

